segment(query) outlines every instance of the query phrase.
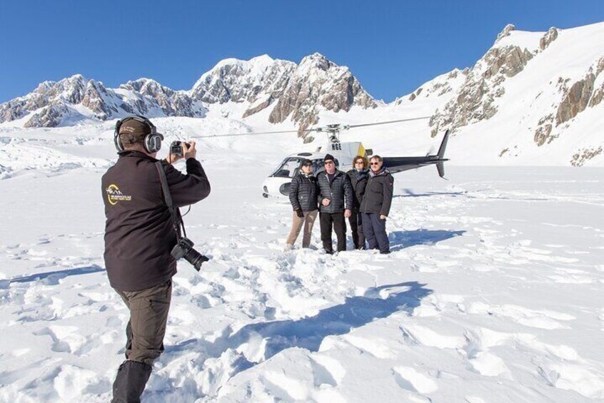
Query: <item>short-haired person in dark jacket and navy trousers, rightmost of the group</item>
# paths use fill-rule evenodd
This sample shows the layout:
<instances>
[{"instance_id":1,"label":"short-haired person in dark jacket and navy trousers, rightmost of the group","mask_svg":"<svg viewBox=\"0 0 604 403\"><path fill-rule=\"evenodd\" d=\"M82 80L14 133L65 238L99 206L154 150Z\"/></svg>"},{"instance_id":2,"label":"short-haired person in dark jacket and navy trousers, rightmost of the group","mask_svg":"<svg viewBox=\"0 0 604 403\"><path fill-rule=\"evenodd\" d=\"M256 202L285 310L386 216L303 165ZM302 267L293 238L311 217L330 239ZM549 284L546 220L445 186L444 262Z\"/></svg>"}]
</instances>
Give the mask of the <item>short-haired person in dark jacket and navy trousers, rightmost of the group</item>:
<instances>
[{"instance_id":1,"label":"short-haired person in dark jacket and navy trousers, rightmost of the group","mask_svg":"<svg viewBox=\"0 0 604 403\"><path fill-rule=\"evenodd\" d=\"M369 243L369 249L378 249L380 253L390 253L390 242L386 234L386 218L390 213L394 178L383 167L379 155L373 155L369 162L369 179L361 200L363 214L363 232Z\"/></svg>"}]
</instances>

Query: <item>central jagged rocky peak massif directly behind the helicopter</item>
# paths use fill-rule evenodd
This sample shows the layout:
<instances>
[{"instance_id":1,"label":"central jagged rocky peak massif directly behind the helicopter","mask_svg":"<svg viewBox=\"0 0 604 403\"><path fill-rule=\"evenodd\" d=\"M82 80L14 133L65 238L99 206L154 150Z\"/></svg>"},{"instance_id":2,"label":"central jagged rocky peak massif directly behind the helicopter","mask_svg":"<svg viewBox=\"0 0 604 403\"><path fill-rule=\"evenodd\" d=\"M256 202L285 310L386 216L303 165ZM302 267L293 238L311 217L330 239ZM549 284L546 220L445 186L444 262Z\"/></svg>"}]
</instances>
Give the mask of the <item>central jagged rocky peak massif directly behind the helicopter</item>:
<instances>
[{"instance_id":1,"label":"central jagged rocky peak massif directly behind the helicopter","mask_svg":"<svg viewBox=\"0 0 604 403\"><path fill-rule=\"evenodd\" d=\"M306 56L299 66L268 56L226 59L199 78L191 96L207 103L247 101L251 104L244 118L272 107L268 121L290 118L301 131L317 122L318 106L334 112L377 106L348 68L319 53Z\"/></svg>"}]
</instances>

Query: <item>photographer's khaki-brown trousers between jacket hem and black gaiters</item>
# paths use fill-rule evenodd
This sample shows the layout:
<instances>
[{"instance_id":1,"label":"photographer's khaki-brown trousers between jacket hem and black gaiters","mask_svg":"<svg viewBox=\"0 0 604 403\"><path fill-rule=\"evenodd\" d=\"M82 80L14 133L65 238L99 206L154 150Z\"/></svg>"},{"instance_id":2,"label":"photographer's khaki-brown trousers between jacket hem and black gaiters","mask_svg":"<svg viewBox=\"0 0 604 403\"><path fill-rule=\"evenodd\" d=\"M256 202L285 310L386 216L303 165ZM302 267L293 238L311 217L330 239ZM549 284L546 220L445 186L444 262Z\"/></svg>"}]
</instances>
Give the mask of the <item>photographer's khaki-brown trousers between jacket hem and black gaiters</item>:
<instances>
[{"instance_id":1,"label":"photographer's khaki-brown trousers between jacket hem and black gaiters","mask_svg":"<svg viewBox=\"0 0 604 403\"><path fill-rule=\"evenodd\" d=\"M130 310L126 327L126 358L152 365L163 352L172 281L141 291L116 292Z\"/></svg>"}]
</instances>

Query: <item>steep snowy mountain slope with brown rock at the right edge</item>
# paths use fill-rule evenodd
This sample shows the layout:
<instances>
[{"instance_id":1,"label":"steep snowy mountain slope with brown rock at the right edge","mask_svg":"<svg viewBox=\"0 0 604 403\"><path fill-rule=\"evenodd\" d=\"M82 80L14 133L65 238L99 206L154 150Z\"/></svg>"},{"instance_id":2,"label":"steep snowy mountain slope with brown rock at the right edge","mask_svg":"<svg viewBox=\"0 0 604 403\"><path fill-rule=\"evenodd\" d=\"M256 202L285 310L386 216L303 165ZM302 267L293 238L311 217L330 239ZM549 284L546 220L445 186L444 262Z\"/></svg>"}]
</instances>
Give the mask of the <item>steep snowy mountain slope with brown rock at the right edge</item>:
<instances>
[{"instance_id":1,"label":"steep snowy mountain slope with brown rock at the right edge","mask_svg":"<svg viewBox=\"0 0 604 403\"><path fill-rule=\"evenodd\" d=\"M577 166L603 151L603 71L604 23L545 33L509 24L473 67L395 103L429 104L431 136L451 128L467 147L490 151L488 161L548 155L549 165Z\"/></svg>"}]
</instances>

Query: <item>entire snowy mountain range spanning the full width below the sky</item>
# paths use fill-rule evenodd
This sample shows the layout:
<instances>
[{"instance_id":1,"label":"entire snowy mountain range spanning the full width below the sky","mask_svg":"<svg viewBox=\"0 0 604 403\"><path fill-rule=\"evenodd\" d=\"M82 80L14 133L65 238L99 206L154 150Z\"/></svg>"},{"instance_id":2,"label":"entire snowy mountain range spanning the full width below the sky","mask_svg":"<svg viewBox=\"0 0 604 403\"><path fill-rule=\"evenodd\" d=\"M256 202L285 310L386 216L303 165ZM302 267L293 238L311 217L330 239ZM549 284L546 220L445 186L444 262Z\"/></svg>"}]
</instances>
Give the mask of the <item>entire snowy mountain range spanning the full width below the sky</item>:
<instances>
[{"instance_id":1,"label":"entire snowy mountain range spanning the full width below the sky","mask_svg":"<svg viewBox=\"0 0 604 403\"><path fill-rule=\"evenodd\" d=\"M406 126L418 133L413 143L423 146L451 128L451 153L464 163L601 165L603 71L604 23L545 33L509 24L474 66L454 68L391 103L373 99L348 68L319 53L299 64L264 55L220 61L188 91L149 78L119 88L80 75L46 81L0 104L0 127L74 126L130 113L204 118L216 111L252 131L284 123L305 136L318 123L430 116ZM389 138L385 128L379 134Z\"/></svg>"}]
</instances>

